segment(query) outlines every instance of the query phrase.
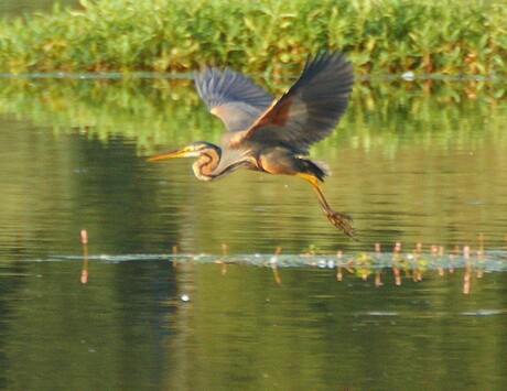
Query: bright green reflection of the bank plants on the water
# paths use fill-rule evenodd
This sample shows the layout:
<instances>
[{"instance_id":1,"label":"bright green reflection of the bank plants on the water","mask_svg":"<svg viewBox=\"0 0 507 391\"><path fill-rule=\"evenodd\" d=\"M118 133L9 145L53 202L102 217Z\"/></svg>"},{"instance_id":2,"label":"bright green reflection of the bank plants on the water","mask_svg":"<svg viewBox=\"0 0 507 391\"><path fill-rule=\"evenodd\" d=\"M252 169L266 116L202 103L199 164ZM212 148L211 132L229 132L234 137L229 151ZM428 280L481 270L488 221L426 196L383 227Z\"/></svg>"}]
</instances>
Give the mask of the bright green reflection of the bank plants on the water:
<instances>
[{"instance_id":1,"label":"bright green reflection of the bank plants on the water","mask_svg":"<svg viewBox=\"0 0 507 391\"><path fill-rule=\"evenodd\" d=\"M265 82L259 82L265 83ZM291 80L279 80L279 94ZM138 149L217 140L222 123L213 119L188 79L0 79L0 111L15 113L55 131L77 128L106 141L111 133L136 138ZM505 115L503 82L402 80L356 84L338 131L315 151L338 143L368 150L382 144L392 153L407 135L444 148L450 140L483 139L485 122L495 141L506 141L498 122ZM338 151L328 151L335 156Z\"/></svg>"}]
</instances>

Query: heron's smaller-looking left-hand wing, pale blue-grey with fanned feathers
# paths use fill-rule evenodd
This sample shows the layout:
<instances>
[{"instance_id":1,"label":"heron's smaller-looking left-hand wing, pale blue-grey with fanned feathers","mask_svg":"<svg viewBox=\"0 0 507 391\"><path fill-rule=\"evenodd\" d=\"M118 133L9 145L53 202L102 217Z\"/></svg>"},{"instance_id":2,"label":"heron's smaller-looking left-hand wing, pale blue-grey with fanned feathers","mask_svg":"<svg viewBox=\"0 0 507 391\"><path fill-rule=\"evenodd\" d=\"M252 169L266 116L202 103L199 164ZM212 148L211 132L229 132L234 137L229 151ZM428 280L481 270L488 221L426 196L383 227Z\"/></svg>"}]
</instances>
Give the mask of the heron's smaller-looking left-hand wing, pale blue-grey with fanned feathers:
<instances>
[{"instance_id":1,"label":"heron's smaller-looking left-hand wing, pale blue-grey with fanned feathers","mask_svg":"<svg viewBox=\"0 0 507 391\"><path fill-rule=\"evenodd\" d=\"M227 68L205 67L195 73L195 86L209 111L230 132L248 129L273 100L249 78Z\"/></svg>"}]
</instances>

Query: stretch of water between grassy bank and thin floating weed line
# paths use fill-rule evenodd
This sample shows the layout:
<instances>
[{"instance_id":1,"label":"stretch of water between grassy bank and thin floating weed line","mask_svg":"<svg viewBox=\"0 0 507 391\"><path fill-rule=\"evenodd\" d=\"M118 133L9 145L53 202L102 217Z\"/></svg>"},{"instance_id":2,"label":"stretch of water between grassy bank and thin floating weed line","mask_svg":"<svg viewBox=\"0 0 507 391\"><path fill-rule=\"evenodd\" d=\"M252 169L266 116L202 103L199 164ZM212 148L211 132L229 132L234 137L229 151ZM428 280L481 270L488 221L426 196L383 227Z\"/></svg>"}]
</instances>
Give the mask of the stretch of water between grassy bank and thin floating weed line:
<instances>
[{"instance_id":1,"label":"stretch of water between grassy bank and thin floating weed line","mask_svg":"<svg viewBox=\"0 0 507 391\"><path fill-rule=\"evenodd\" d=\"M223 126L191 80L20 78L0 88L8 242L33 235L47 251L68 252L69 232L85 227L96 251L109 253L166 252L174 243L216 252L223 242L235 253L277 246L333 253L397 240L450 248L473 246L481 232L486 248L505 243L503 85L356 85L338 129L312 154L331 165L324 191L354 216L357 245L328 226L296 178L237 172L204 184L188 161L144 162L162 148L219 139Z\"/></svg>"}]
</instances>

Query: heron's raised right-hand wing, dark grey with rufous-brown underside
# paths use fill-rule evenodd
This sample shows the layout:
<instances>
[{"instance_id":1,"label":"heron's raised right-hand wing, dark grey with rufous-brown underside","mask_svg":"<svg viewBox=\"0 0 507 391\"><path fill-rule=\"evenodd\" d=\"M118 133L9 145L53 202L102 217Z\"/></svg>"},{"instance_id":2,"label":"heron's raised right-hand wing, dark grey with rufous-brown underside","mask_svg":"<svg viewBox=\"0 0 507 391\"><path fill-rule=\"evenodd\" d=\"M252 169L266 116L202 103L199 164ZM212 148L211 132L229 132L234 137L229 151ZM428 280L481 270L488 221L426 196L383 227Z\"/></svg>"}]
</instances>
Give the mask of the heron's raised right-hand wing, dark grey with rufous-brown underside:
<instances>
[{"instance_id":1,"label":"heron's raised right-hand wing, dark grey with rufous-brown underside","mask_svg":"<svg viewBox=\"0 0 507 391\"><path fill-rule=\"evenodd\" d=\"M287 144L306 151L327 137L344 113L354 74L344 54L309 56L294 85L236 139L263 144Z\"/></svg>"}]
</instances>

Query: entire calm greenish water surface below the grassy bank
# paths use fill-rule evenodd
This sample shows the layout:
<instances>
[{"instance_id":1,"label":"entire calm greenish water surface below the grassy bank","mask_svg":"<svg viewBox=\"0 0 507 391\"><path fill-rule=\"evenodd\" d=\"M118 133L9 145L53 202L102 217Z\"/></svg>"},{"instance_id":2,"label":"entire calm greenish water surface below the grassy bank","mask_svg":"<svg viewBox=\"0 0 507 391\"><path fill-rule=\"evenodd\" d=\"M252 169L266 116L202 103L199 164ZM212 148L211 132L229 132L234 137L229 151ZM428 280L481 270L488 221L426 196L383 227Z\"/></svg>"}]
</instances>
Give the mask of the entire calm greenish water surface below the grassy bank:
<instances>
[{"instance_id":1,"label":"entire calm greenish water surface below the grassy bank","mask_svg":"<svg viewBox=\"0 0 507 391\"><path fill-rule=\"evenodd\" d=\"M356 88L312 154L331 165L324 192L354 217L359 242L296 178L202 183L191 161L145 162L218 140L188 80L0 87L0 387L506 388L499 87L475 99L456 84ZM380 242L395 259L396 241L399 263L363 254ZM408 264L417 242L423 254ZM441 267L431 245L444 248ZM184 256L169 259L174 246ZM277 247L298 267L271 270Z\"/></svg>"}]
</instances>

